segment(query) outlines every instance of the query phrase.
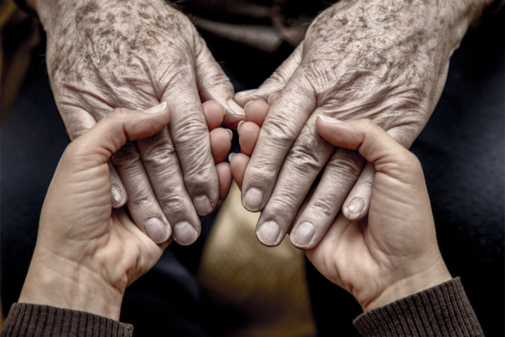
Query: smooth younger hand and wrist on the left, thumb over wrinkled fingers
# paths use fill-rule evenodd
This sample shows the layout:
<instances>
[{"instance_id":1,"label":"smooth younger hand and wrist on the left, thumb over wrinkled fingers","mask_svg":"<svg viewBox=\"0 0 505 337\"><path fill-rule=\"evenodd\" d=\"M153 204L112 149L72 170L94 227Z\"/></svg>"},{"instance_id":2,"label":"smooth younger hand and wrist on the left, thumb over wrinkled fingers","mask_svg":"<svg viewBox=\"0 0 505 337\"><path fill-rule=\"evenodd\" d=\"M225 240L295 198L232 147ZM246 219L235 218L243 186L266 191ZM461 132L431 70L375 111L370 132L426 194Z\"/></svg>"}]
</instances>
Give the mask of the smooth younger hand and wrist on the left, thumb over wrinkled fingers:
<instances>
[{"instance_id":1,"label":"smooth younger hand and wrist on the left, thumb over wrinkled fingers","mask_svg":"<svg viewBox=\"0 0 505 337\"><path fill-rule=\"evenodd\" d=\"M158 261L171 241L171 228L168 223L144 228L162 243L157 245L125 209L112 208L107 163L127 140L150 137L166 128L169 119L166 103L146 112L115 109L68 145L44 200L19 302L118 319L126 287ZM213 148L219 154L226 151L219 144ZM217 171L221 190L227 192L229 166Z\"/></svg>"}]
</instances>

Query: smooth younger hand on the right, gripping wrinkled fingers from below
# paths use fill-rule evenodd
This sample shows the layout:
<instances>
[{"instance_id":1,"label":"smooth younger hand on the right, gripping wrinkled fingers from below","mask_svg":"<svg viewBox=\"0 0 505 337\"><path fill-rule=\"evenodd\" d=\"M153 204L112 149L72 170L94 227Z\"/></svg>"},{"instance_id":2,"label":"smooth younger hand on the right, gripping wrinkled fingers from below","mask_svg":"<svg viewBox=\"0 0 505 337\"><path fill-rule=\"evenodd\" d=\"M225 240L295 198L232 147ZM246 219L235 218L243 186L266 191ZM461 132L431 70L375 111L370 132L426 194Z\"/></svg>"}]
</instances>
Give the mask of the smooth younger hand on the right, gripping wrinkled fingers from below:
<instances>
[{"instance_id":1,"label":"smooth younger hand on the right, gripping wrinkled fingers from below","mask_svg":"<svg viewBox=\"0 0 505 337\"><path fill-rule=\"evenodd\" d=\"M255 125L241 128L247 123ZM317 118L316 128L331 144L358 149L376 171L367 217L350 221L339 214L319 245L306 251L312 264L365 312L449 281L418 159L370 120ZM243 142L254 147L255 139ZM244 153L231 159L239 186L248 161Z\"/></svg>"}]
</instances>

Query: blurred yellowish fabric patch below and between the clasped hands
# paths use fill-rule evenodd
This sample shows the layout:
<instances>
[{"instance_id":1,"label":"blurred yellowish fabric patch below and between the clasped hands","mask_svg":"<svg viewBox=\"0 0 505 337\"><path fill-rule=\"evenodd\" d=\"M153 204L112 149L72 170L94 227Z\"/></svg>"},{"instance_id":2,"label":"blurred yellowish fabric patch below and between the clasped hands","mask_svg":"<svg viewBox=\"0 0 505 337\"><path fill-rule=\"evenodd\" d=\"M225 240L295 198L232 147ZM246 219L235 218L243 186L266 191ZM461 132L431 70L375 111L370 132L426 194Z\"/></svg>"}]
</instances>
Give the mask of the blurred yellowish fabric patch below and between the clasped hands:
<instances>
[{"instance_id":1,"label":"blurred yellowish fabric patch below and between the clasped hands","mask_svg":"<svg viewBox=\"0 0 505 337\"><path fill-rule=\"evenodd\" d=\"M242 207L233 183L204 247L200 288L244 317L229 336L315 336L303 252L288 238L279 247L261 245L258 216Z\"/></svg>"}]
</instances>

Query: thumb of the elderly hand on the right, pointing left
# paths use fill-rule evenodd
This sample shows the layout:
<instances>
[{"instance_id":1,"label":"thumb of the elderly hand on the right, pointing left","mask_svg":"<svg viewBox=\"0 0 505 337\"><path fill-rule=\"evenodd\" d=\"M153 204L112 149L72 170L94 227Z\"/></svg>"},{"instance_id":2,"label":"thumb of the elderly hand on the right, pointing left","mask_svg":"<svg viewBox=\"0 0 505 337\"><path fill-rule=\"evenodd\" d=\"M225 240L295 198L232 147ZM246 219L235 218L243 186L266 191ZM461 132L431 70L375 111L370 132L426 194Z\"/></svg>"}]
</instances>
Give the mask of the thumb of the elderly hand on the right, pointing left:
<instances>
[{"instance_id":1,"label":"thumb of the elderly hand on the right, pointing left","mask_svg":"<svg viewBox=\"0 0 505 337\"><path fill-rule=\"evenodd\" d=\"M272 94L279 93L283 90L288 80L293 73L295 73L298 66L300 66L302 56L303 42L296 47L288 59L286 59L286 61L284 61L281 66L257 88L257 90L237 92L234 97L235 101L241 106L245 106L245 104L255 99L261 99L267 102Z\"/></svg>"}]
</instances>

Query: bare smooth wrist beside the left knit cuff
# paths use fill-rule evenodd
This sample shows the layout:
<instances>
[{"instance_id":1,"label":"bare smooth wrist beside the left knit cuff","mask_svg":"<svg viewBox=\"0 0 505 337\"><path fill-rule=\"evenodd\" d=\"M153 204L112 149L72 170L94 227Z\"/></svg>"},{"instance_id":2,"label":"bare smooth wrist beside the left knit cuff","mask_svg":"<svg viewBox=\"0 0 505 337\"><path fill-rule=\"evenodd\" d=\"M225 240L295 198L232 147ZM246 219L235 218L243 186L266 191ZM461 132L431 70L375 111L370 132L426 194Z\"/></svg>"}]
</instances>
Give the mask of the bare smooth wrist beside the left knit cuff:
<instances>
[{"instance_id":1,"label":"bare smooth wrist beside the left knit cuff","mask_svg":"<svg viewBox=\"0 0 505 337\"><path fill-rule=\"evenodd\" d=\"M124 289L115 288L87 266L35 248L18 302L79 310L118 320L123 294Z\"/></svg>"}]
</instances>

